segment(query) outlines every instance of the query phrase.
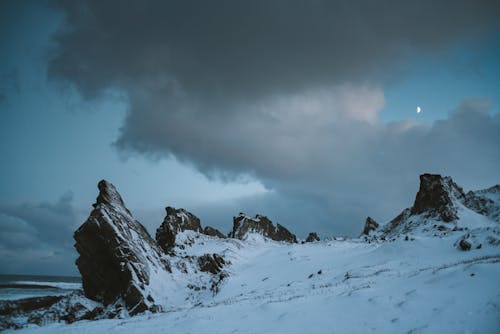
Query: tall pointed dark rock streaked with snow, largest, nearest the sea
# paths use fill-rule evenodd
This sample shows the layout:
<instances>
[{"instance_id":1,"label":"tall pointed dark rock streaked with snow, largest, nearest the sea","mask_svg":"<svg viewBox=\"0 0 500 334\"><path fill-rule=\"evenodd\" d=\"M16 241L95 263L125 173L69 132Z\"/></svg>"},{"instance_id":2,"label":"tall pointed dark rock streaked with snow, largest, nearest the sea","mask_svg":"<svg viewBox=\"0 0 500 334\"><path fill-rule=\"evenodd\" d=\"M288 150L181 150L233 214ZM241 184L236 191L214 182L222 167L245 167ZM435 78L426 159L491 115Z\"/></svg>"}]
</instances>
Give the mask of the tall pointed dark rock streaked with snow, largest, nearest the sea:
<instances>
[{"instance_id":1,"label":"tall pointed dark rock streaked with snow, largest, nearest the sea","mask_svg":"<svg viewBox=\"0 0 500 334\"><path fill-rule=\"evenodd\" d=\"M155 311L150 274L170 271L169 264L115 187L102 180L98 188L94 210L74 234L85 296L104 305L123 300L131 315Z\"/></svg>"}]
</instances>

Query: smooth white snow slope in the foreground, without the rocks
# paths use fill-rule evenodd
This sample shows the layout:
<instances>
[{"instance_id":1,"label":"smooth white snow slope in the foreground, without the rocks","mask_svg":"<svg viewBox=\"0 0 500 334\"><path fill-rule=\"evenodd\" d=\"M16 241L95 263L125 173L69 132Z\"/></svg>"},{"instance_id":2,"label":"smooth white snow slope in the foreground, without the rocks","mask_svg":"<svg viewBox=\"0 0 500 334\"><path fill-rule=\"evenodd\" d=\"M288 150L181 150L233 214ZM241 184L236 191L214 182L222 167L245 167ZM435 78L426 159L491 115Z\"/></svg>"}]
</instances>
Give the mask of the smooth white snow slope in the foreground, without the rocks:
<instances>
[{"instance_id":1,"label":"smooth white snow slope in the foreground, without the rocks","mask_svg":"<svg viewBox=\"0 0 500 334\"><path fill-rule=\"evenodd\" d=\"M231 261L217 295L165 313L7 332L499 333L500 247L465 252L454 246L459 237L283 244L200 235L177 251Z\"/></svg>"}]
</instances>

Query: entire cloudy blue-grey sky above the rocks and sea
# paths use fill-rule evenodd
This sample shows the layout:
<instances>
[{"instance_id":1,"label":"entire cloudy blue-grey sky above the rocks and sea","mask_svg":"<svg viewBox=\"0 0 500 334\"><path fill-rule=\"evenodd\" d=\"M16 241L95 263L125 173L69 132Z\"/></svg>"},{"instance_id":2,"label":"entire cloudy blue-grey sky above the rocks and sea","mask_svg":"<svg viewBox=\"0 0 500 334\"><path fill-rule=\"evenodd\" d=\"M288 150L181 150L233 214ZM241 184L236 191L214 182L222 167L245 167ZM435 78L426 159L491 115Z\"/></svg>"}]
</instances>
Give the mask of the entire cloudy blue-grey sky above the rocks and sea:
<instances>
[{"instance_id":1,"label":"entire cloudy blue-grey sky above the rocks and sea","mask_svg":"<svg viewBox=\"0 0 500 334\"><path fill-rule=\"evenodd\" d=\"M0 1L0 274L78 274L101 179L151 234L169 205L299 238L389 221L424 172L500 183L499 18L497 1Z\"/></svg>"}]
</instances>

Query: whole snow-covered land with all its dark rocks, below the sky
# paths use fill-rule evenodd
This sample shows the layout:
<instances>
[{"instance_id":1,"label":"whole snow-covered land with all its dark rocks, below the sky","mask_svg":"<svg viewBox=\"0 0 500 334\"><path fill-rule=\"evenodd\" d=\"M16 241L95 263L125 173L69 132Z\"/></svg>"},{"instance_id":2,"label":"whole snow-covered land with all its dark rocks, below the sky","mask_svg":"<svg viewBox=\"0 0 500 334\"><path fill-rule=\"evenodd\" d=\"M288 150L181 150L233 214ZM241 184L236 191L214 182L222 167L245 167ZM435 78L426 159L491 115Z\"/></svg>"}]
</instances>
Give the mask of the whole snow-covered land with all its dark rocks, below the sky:
<instances>
[{"instance_id":1,"label":"whole snow-covered land with all its dark rocks, below the sky","mask_svg":"<svg viewBox=\"0 0 500 334\"><path fill-rule=\"evenodd\" d=\"M94 301L75 293L0 312L26 326L16 333L500 333L500 187L420 180L390 222L368 217L358 239L306 243L261 215L234 217L225 238L171 207L155 242L102 181L75 233Z\"/></svg>"}]
</instances>

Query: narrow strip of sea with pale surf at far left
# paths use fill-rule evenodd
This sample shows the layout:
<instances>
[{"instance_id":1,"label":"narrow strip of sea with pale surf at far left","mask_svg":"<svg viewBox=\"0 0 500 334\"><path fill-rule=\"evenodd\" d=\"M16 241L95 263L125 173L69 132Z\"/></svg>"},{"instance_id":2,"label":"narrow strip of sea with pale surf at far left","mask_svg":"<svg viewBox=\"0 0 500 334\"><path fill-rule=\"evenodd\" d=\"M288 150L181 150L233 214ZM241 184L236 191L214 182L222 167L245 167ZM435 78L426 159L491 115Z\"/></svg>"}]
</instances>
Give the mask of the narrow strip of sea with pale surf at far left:
<instances>
[{"instance_id":1,"label":"narrow strip of sea with pale surf at far left","mask_svg":"<svg viewBox=\"0 0 500 334\"><path fill-rule=\"evenodd\" d=\"M0 301L67 295L81 289L80 277L0 275Z\"/></svg>"}]
</instances>

